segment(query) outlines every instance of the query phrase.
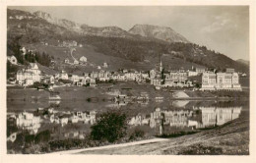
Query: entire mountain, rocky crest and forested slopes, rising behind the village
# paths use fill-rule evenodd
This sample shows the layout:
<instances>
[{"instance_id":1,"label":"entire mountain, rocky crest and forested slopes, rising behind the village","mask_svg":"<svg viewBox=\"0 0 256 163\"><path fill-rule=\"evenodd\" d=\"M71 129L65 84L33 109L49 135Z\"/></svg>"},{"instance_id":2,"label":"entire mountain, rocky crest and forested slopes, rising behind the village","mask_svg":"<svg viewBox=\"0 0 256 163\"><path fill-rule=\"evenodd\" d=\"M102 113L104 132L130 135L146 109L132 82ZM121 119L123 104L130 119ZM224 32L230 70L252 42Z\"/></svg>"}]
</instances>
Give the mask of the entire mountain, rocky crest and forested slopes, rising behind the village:
<instances>
[{"instance_id":1,"label":"entire mountain, rocky crest and forested slopes, rising behind the village","mask_svg":"<svg viewBox=\"0 0 256 163\"><path fill-rule=\"evenodd\" d=\"M171 69L187 69L196 64L221 70L234 68L237 72L245 73L249 70L248 66L224 54L188 42L170 27L137 25L128 32L120 27L79 25L69 20L56 19L43 12L32 14L8 9L7 15L8 51L14 53L17 50L12 49L12 44L18 42L22 46L32 46L35 51L45 51L63 61L67 54L59 43L75 40L84 45L77 48L77 56L94 58L100 54L105 61L109 59L114 68L134 66L141 69L145 66L145 70L150 70L159 64L159 56L162 55L163 66ZM45 42L47 46L44 45ZM97 60L98 58L94 63Z\"/></svg>"}]
</instances>

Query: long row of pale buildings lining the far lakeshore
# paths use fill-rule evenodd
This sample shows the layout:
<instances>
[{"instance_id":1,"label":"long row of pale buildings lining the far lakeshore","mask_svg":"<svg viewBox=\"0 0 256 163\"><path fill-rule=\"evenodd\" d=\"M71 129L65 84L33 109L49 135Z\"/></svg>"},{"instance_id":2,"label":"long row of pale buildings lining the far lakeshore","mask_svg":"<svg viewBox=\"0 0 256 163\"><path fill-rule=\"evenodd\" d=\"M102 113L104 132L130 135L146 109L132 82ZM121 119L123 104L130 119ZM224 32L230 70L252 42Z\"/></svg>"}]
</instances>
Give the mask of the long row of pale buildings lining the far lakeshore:
<instances>
[{"instance_id":1,"label":"long row of pale buildings lining the far lakeshore","mask_svg":"<svg viewBox=\"0 0 256 163\"><path fill-rule=\"evenodd\" d=\"M86 61L84 57L84 61ZM196 69L197 70L197 69ZM190 72L190 73L188 73ZM58 80L69 80L73 84L96 86L96 81L150 81L156 87L179 86L189 87L193 86L189 76L191 72L193 75L202 76L201 90L241 90L239 83L239 76L233 69L226 69L224 73L215 73L205 71L205 69L198 69L198 71L170 71L163 72L160 62L160 70L151 70L148 72L138 72L136 70L122 70L117 72L108 72L99 70L97 72L84 73L83 76L68 75L65 71L54 76L42 76L36 63L30 63L27 69L22 69L17 72L16 80L21 85L32 85L35 81L50 81L54 83ZM190 75L189 75L190 74Z\"/></svg>"}]
</instances>

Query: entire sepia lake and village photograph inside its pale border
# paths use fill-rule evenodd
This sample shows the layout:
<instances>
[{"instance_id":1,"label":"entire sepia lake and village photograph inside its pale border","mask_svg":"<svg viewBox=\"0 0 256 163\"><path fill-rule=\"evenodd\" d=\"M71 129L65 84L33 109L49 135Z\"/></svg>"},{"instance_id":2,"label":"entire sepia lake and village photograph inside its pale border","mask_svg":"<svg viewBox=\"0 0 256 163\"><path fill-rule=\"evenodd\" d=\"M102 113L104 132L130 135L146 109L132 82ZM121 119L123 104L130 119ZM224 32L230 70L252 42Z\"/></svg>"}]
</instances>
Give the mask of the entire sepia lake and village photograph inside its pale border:
<instances>
[{"instance_id":1,"label":"entire sepia lake and village photograph inside its pale border","mask_svg":"<svg viewBox=\"0 0 256 163\"><path fill-rule=\"evenodd\" d=\"M250 155L250 6L5 13L7 155Z\"/></svg>"}]
</instances>

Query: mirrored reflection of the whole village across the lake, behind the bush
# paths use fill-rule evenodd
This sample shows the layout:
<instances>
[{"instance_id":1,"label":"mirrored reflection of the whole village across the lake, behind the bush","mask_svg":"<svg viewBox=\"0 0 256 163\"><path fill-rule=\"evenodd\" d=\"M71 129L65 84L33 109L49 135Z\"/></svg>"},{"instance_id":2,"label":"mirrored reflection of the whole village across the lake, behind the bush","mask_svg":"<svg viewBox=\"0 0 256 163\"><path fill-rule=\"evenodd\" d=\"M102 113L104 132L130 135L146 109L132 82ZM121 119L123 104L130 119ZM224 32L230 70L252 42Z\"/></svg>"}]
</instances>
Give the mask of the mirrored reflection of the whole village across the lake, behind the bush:
<instances>
[{"instance_id":1,"label":"mirrored reflection of the whole village across the lake, behind the bush","mask_svg":"<svg viewBox=\"0 0 256 163\"><path fill-rule=\"evenodd\" d=\"M127 114L129 130L147 129L148 135L156 136L224 125L239 118L242 109L247 107L244 103L234 104L233 101L146 101L125 105L114 102L61 101L46 108L39 107L37 110L9 112L7 128L10 129L10 133L7 139L15 142L19 133L28 131L29 135L36 135L45 130L50 131L53 139L83 139L90 134L90 127L96 123L98 115L109 109L117 109ZM41 106L41 103L38 104ZM71 109L72 105L77 107ZM14 127L17 127L17 130L13 130Z\"/></svg>"}]
</instances>

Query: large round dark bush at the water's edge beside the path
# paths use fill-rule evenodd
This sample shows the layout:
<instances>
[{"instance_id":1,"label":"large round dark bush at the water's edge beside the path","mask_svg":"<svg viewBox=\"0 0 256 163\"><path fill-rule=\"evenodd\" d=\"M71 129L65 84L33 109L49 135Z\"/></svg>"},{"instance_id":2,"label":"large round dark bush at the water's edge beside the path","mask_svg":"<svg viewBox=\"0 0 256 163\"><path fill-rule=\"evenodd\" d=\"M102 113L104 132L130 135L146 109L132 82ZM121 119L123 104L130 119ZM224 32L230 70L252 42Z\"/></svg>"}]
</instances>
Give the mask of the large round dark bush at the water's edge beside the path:
<instances>
[{"instance_id":1,"label":"large round dark bush at the water's edge beside the path","mask_svg":"<svg viewBox=\"0 0 256 163\"><path fill-rule=\"evenodd\" d=\"M91 129L91 138L95 140L116 141L126 134L126 115L118 112L103 113Z\"/></svg>"}]
</instances>

